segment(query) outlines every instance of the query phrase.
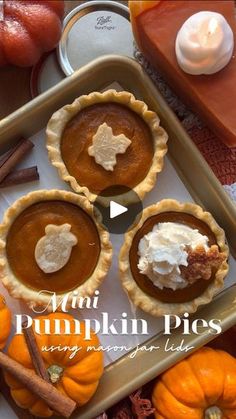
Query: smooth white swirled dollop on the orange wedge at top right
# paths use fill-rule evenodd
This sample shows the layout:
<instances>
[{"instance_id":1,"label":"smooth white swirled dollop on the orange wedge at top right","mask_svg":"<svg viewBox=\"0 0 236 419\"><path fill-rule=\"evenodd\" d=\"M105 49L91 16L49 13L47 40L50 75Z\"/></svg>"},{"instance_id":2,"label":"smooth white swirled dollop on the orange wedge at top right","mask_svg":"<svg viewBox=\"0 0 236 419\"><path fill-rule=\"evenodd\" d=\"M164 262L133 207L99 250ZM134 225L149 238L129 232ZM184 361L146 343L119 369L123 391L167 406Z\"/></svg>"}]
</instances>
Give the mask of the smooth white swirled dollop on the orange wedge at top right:
<instances>
[{"instance_id":1,"label":"smooth white swirled dollop on the orange wedge at top right","mask_svg":"<svg viewBox=\"0 0 236 419\"><path fill-rule=\"evenodd\" d=\"M175 52L179 66L188 74L214 74L230 61L234 35L220 13L199 12L179 30Z\"/></svg>"}]
</instances>

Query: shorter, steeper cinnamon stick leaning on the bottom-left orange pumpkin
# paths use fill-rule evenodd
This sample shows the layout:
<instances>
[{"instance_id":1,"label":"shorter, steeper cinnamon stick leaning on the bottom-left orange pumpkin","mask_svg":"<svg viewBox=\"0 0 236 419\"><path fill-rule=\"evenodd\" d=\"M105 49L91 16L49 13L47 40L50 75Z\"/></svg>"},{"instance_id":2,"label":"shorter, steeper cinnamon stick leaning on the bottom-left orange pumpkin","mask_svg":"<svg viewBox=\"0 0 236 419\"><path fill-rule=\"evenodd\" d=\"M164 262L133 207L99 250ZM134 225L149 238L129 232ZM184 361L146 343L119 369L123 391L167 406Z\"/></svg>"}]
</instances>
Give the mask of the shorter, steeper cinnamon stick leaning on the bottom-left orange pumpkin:
<instances>
[{"instance_id":1,"label":"shorter, steeper cinnamon stick leaning on the bottom-left orange pumpkin","mask_svg":"<svg viewBox=\"0 0 236 419\"><path fill-rule=\"evenodd\" d=\"M39 347L37 345L37 341L35 339L35 334L32 327L25 328L23 323L23 333L26 341L26 345L28 347L31 360L35 369L35 372L43 378L43 380L50 383L50 379L46 370L46 367L43 362L43 358L41 355L41 352L39 350Z\"/></svg>"}]
</instances>

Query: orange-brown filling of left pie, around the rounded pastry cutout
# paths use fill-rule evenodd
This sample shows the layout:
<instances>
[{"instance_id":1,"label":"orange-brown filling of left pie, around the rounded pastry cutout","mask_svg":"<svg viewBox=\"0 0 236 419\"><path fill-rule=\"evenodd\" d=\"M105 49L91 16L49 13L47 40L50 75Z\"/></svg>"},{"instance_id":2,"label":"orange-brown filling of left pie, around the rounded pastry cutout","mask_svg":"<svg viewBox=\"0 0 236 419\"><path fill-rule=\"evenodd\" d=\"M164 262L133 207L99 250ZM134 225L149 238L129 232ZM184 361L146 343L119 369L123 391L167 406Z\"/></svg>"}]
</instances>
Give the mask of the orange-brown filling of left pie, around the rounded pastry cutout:
<instances>
[{"instance_id":1,"label":"orange-brown filling of left pie, around the rounded pastry cutout","mask_svg":"<svg viewBox=\"0 0 236 419\"><path fill-rule=\"evenodd\" d=\"M45 273L35 259L35 248L48 225L71 226L77 239L68 262L56 272ZM100 238L92 218L75 204L51 200L26 208L12 223L6 242L8 263L14 275L34 290L62 293L83 284L96 268Z\"/></svg>"}]
</instances>

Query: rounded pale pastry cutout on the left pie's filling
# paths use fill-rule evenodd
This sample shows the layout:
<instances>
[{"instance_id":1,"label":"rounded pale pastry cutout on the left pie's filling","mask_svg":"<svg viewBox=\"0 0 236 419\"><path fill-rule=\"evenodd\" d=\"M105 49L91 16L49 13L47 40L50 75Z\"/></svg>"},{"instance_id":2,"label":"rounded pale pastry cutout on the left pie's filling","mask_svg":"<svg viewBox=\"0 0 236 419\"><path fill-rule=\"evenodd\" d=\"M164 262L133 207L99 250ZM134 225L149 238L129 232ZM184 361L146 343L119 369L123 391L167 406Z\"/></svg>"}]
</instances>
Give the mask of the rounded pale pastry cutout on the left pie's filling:
<instances>
[{"instance_id":1,"label":"rounded pale pastry cutout on the left pie's filling","mask_svg":"<svg viewBox=\"0 0 236 419\"><path fill-rule=\"evenodd\" d=\"M35 260L44 273L57 272L68 263L72 247L78 242L70 230L70 224L46 226L45 236L35 247Z\"/></svg>"}]
</instances>

